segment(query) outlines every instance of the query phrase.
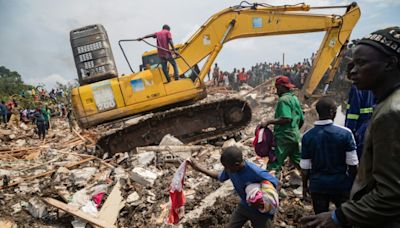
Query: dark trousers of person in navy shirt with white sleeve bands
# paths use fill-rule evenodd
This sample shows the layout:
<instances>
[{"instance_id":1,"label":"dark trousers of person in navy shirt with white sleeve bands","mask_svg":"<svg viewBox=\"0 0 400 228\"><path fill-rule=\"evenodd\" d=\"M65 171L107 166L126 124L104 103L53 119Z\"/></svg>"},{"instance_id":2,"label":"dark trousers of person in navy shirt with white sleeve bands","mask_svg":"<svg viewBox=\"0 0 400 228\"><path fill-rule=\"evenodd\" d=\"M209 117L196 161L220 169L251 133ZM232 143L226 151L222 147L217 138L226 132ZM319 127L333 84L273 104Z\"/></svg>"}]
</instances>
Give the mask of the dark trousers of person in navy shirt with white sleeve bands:
<instances>
[{"instance_id":1,"label":"dark trousers of person in navy shirt with white sleeve bands","mask_svg":"<svg viewBox=\"0 0 400 228\"><path fill-rule=\"evenodd\" d=\"M319 214L322 212L329 211L329 203L332 202L335 204L336 208L340 207L340 205L346 202L349 199L348 193L339 193L339 194L326 194L326 193L311 193L311 198L313 201L314 213Z\"/></svg>"}]
</instances>

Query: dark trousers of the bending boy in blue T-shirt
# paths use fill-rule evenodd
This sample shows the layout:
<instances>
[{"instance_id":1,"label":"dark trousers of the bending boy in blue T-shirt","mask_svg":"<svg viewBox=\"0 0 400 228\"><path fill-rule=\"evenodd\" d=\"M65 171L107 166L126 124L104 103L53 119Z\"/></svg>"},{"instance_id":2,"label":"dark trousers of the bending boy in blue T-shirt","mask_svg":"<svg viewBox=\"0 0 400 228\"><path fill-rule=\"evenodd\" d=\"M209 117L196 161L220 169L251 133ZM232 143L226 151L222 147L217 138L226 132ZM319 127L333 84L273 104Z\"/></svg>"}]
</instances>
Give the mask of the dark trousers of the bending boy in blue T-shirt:
<instances>
[{"instance_id":1,"label":"dark trousers of the bending boy in blue T-shirt","mask_svg":"<svg viewBox=\"0 0 400 228\"><path fill-rule=\"evenodd\" d=\"M231 216L228 228L240 228L249 221L253 228L272 228L271 219L263 214L249 211L248 208L239 204Z\"/></svg>"}]
</instances>

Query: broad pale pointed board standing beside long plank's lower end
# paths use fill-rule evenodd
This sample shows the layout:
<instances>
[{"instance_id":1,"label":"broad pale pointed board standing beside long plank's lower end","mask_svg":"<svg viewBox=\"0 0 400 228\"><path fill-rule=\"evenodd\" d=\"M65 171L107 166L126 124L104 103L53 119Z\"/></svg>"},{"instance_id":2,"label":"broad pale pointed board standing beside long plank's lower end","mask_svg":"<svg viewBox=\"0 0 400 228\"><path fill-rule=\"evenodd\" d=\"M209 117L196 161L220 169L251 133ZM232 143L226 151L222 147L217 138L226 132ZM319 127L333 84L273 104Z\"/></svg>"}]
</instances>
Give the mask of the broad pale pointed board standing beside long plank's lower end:
<instances>
[{"instance_id":1,"label":"broad pale pointed board standing beside long plank's lower end","mask_svg":"<svg viewBox=\"0 0 400 228\"><path fill-rule=\"evenodd\" d=\"M109 224L115 224L118 219L119 211L125 206L124 198L121 195L121 186L117 182L106 202L101 207L98 218L106 221Z\"/></svg>"}]
</instances>

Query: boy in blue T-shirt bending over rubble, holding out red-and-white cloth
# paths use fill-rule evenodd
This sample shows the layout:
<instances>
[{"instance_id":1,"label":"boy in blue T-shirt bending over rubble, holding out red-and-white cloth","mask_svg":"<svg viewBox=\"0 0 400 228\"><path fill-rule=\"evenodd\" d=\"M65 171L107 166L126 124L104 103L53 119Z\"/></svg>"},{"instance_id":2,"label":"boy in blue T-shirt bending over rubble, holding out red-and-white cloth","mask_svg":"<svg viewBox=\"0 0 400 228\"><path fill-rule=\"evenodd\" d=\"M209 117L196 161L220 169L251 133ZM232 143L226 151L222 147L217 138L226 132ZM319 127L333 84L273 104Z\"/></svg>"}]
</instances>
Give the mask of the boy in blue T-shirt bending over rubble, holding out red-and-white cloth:
<instances>
[{"instance_id":1,"label":"boy in blue T-shirt bending over rubble, holding out red-and-white cloth","mask_svg":"<svg viewBox=\"0 0 400 228\"><path fill-rule=\"evenodd\" d=\"M228 179L232 181L235 191L239 195L241 201L236 210L233 212L227 227L242 227L247 221L250 220L251 225L254 228L272 228L272 215L268 212L261 213L258 210L260 207L257 201L249 203L247 202L247 199L250 197L247 197L246 187L249 184L259 184L263 181L268 181L272 183L274 188L276 188L278 186L278 180L266 170L259 168L254 163L243 160L242 151L237 147L227 147L223 149L220 161L224 166L224 170L220 173L200 166L193 159L189 161L189 164L194 170L204 173L205 175L221 182L224 182Z\"/></svg>"}]
</instances>

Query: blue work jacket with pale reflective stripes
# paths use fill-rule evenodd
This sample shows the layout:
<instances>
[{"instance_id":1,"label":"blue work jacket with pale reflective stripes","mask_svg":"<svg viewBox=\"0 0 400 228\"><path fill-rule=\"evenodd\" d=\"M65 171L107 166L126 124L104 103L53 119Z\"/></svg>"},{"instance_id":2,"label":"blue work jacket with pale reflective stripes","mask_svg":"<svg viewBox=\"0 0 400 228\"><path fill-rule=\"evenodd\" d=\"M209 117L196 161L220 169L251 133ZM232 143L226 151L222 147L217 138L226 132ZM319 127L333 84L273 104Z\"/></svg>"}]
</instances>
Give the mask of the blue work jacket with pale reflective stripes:
<instances>
[{"instance_id":1,"label":"blue work jacket with pale reflective stripes","mask_svg":"<svg viewBox=\"0 0 400 228\"><path fill-rule=\"evenodd\" d=\"M359 158L363 149L365 130L369 119L371 119L374 106L375 97L372 91L358 90L356 86L351 86L347 102L345 126L354 134Z\"/></svg>"}]
</instances>

